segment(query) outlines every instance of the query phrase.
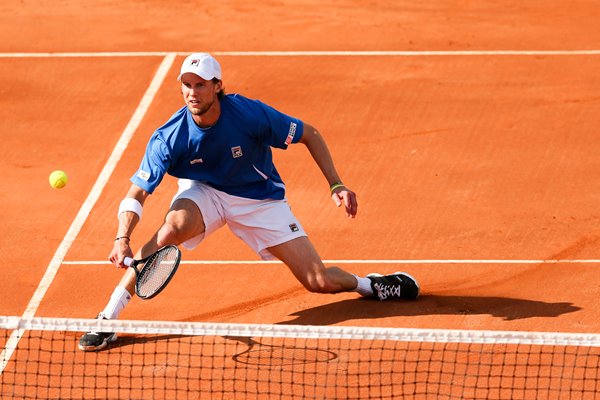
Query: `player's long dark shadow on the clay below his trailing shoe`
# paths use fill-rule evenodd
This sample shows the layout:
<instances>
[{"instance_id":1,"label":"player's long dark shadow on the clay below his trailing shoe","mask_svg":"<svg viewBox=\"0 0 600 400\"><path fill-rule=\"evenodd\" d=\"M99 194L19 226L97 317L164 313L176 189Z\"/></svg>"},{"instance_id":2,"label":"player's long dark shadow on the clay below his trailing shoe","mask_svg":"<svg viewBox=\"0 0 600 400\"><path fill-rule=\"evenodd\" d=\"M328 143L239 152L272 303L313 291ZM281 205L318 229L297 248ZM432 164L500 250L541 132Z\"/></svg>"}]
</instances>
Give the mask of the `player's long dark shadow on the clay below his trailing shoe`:
<instances>
[{"instance_id":1,"label":"player's long dark shadow on the clay below his trailing shoe","mask_svg":"<svg viewBox=\"0 0 600 400\"><path fill-rule=\"evenodd\" d=\"M394 316L491 315L505 321L534 317L558 317L581 310L573 303L485 296L422 295L416 301L349 299L291 314L286 325L332 325L354 319Z\"/></svg>"}]
</instances>

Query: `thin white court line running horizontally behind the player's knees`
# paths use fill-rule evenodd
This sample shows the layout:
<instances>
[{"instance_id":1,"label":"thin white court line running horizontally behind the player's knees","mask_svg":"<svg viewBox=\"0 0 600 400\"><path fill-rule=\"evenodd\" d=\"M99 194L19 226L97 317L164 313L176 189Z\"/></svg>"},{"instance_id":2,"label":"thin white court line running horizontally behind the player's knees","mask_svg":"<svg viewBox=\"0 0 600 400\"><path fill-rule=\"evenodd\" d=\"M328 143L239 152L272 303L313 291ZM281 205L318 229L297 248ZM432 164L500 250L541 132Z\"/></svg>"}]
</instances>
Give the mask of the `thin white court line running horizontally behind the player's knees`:
<instances>
[{"instance_id":1,"label":"thin white court line running horizontally behind the player's knees","mask_svg":"<svg viewBox=\"0 0 600 400\"><path fill-rule=\"evenodd\" d=\"M598 264L600 259L571 260L323 260L325 264ZM261 260L183 260L181 265L255 265L282 264ZM64 261L63 265L111 265L108 261Z\"/></svg>"}]
</instances>

